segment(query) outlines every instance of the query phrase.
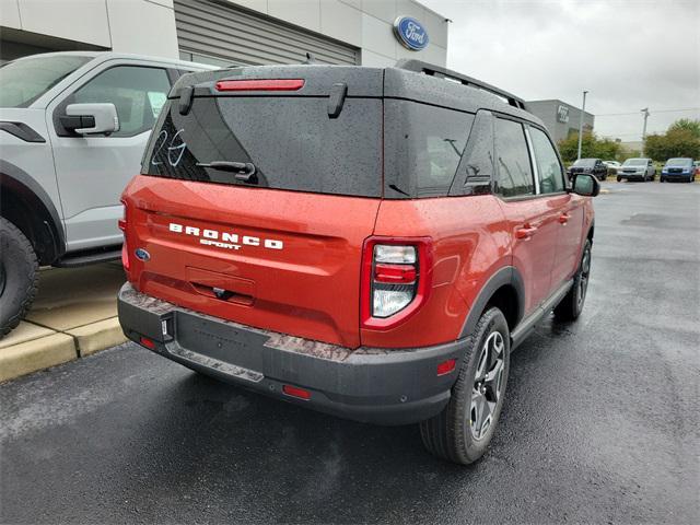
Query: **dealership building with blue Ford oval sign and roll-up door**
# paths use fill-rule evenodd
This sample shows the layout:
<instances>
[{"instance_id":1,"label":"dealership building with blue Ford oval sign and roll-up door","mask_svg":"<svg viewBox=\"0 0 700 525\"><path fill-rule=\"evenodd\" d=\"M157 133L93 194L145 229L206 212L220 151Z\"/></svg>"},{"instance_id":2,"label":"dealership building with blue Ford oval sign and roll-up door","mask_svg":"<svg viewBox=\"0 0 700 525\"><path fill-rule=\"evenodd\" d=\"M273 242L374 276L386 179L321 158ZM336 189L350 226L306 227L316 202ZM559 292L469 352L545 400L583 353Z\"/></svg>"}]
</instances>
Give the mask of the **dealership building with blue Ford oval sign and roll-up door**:
<instances>
[{"instance_id":1,"label":"dealership building with blue Ford oval sign and roll-up door","mask_svg":"<svg viewBox=\"0 0 700 525\"><path fill-rule=\"evenodd\" d=\"M0 0L0 61L114 50L215 66L445 66L448 21L413 0Z\"/></svg>"}]
</instances>

